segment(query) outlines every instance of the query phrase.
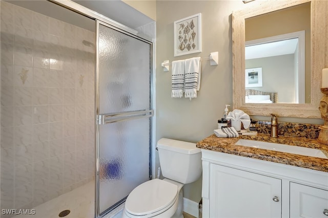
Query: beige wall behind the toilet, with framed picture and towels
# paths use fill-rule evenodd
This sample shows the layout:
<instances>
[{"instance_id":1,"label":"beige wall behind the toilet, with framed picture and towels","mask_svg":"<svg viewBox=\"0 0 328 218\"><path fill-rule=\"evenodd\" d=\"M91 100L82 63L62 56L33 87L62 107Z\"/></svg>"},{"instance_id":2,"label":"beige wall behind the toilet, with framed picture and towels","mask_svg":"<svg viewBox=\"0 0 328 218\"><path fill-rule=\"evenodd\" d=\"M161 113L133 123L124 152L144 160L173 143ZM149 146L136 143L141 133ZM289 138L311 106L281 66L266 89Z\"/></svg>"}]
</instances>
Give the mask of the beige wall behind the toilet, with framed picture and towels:
<instances>
[{"instance_id":1,"label":"beige wall behind the toilet, with framed picture and towels","mask_svg":"<svg viewBox=\"0 0 328 218\"><path fill-rule=\"evenodd\" d=\"M157 1L156 2L156 141L162 137L197 142L213 134L224 105L232 104L232 17L231 13L252 3L242 1ZM202 52L174 57L173 22L201 13ZM207 57L219 52L218 66L202 61L197 98L171 98L171 71L163 72L163 60ZM230 110L232 107L230 107ZM269 117L255 119L270 120ZM321 119L280 119L317 123ZM157 154L156 154L157 156ZM156 158L156 169L158 167ZM194 202L201 198L201 180L184 187L184 196Z\"/></svg>"}]
</instances>

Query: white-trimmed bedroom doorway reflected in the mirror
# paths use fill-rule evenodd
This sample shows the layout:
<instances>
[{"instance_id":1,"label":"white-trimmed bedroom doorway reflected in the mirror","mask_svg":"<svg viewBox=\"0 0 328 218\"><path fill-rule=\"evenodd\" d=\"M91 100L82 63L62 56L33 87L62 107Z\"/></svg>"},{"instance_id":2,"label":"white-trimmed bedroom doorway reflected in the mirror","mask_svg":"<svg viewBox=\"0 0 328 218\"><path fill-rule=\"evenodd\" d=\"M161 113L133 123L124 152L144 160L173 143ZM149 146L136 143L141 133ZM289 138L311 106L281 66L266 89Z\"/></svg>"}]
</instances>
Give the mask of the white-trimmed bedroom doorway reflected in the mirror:
<instances>
[{"instance_id":1,"label":"white-trimmed bedroom doorway reflected in the mirror","mask_svg":"<svg viewBox=\"0 0 328 218\"><path fill-rule=\"evenodd\" d=\"M245 103L305 103L304 57L305 31L246 41L245 91L256 87L258 91L277 93L279 98L254 101L246 95ZM249 71L258 66L264 77L261 72L258 81L251 83Z\"/></svg>"}]
</instances>

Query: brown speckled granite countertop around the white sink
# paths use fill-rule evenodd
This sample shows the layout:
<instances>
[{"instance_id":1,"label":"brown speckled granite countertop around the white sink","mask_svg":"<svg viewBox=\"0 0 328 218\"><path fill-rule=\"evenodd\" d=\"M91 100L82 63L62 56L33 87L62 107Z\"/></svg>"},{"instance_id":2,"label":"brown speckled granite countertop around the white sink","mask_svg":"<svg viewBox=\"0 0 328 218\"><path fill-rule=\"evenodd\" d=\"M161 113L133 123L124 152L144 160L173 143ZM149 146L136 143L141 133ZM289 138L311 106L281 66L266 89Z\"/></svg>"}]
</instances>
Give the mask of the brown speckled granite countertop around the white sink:
<instances>
[{"instance_id":1,"label":"brown speckled granite countertop around the white sink","mask_svg":"<svg viewBox=\"0 0 328 218\"><path fill-rule=\"evenodd\" d=\"M197 142L198 148L239 155L248 158L288 164L303 168L315 169L328 172L328 159L316 158L303 155L289 154L281 151L260 149L235 145L239 139L250 139L263 142L273 142L294 146L310 147L320 149L328 157L328 145L321 144L315 139L279 136L272 138L270 135L257 134L257 136L239 136L238 138L218 138L214 134Z\"/></svg>"}]
</instances>

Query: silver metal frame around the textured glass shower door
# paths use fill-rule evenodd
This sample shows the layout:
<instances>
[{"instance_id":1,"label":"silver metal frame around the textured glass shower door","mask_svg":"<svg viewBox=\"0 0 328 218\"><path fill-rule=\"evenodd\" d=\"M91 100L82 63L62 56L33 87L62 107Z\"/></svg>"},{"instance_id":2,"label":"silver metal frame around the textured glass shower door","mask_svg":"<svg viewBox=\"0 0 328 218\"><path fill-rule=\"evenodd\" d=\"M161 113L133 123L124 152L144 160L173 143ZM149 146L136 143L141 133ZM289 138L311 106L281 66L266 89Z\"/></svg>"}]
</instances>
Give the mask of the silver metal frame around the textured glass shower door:
<instances>
[{"instance_id":1,"label":"silver metal frame around the textured glass shower door","mask_svg":"<svg viewBox=\"0 0 328 218\"><path fill-rule=\"evenodd\" d=\"M98 32L98 23L101 23L105 26L108 26L110 28L113 28L113 29L116 29L122 33L125 33L125 34L128 34L132 37L135 37L137 39L140 39L142 41L145 41L145 42L148 42L151 46L151 51L150 51L150 108L151 110L147 111L147 116L148 117L151 117L151 122L150 122L150 156L149 156L149 163L150 163L150 166L149 166L149 177L150 179L152 179L152 174L154 173L154 168L152 166L152 162L153 162L153 156L155 155L155 151L152 149L153 148L153 144L155 143L154 142L154 138L152 137L152 135L155 133L154 129L155 129L155 125L154 125L154 122L155 122L155 116L154 116L154 108L155 108L155 101L154 101L154 96L155 96L155 90L154 90L154 81L153 81L153 69L154 69L154 59L153 59L153 56L154 56L154 50L153 50L153 40L143 34L140 34L138 31L134 30L134 29L131 29L125 25L122 25L120 23L118 23L117 21L115 20L112 20L104 15L101 15L93 10L90 10L84 6L81 6L73 1L70 1L70 0L46 0L46 1L49 1L49 2L52 2L56 5L59 5L61 7L64 7L66 9L69 9L73 12L76 12L78 14L81 14L81 15L84 15L86 17L89 17L93 20L95 20L95 32L97 33ZM98 35L95 37L96 40L98 40ZM98 53L98 46L97 46L97 43L95 43L95 47L96 47L96 55ZM97 65L97 57L95 58L96 59L96 64L95 64L95 73L96 73L96 76L97 76L97 72L98 72L98 65ZM97 77L96 77L97 78ZM96 80L95 80L96 82ZM99 96L97 95L97 88L98 88L98 84L96 83L96 87L95 87L95 119L96 119L96 123L95 123L95 135L96 137L98 137L97 135L99 134L99 125L97 124L97 119L98 119L98 116L97 116L97 111L99 111L99 108L97 107L97 101L99 100ZM106 115L107 116L107 115ZM111 115L109 115L111 116ZM101 118L99 117L99 119L106 119L106 118ZM97 157L99 157L99 153L97 154L97 152L99 152L99 146L97 145L97 142L95 142L96 144L96 187L95 187L95 193L96 193L96 202L99 201L99 187L98 187L98 184L99 184L99 173L98 173L98 169L99 169L99 162L97 160ZM98 176L97 176L98 175ZM98 180L98 181L97 181ZM96 203L95 202L95 203ZM106 215L108 212L110 211L105 211L103 212L102 215ZM98 218L100 217L99 216L99 205L97 206L97 204L95 204L95 217Z\"/></svg>"}]
</instances>

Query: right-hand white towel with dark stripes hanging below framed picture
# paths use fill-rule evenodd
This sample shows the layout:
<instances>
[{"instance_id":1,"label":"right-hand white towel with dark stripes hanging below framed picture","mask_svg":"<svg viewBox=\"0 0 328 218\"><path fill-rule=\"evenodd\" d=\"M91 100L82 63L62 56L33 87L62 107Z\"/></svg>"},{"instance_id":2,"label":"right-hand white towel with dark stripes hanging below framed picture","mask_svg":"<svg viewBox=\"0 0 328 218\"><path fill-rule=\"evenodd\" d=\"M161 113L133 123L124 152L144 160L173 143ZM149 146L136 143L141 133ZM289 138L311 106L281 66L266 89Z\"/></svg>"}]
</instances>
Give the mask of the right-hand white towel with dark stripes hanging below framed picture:
<instances>
[{"instance_id":1,"label":"right-hand white towel with dark stripes hanging below framed picture","mask_svg":"<svg viewBox=\"0 0 328 218\"><path fill-rule=\"evenodd\" d=\"M197 98L200 88L200 57L185 60L185 97Z\"/></svg>"}]
</instances>

